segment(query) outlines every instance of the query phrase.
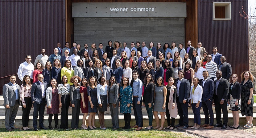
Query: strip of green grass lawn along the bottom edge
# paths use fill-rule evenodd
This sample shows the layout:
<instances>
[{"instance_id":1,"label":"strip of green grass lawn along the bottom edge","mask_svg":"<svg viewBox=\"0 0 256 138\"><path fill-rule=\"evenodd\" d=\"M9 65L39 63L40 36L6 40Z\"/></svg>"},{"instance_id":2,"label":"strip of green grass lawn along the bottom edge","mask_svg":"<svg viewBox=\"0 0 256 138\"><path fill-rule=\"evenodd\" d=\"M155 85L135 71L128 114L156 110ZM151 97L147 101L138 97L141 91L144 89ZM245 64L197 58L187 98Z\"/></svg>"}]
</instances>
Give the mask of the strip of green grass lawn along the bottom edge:
<instances>
[{"instance_id":1,"label":"strip of green grass lawn along the bottom edge","mask_svg":"<svg viewBox=\"0 0 256 138\"><path fill-rule=\"evenodd\" d=\"M146 130L142 129L140 131L135 131L135 128L133 129L118 129L113 130L112 128L108 128L106 130L100 130L97 128L97 130L82 130L82 129L76 129L76 130L68 130L64 131L63 129L57 129L57 130L39 130L39 131L23 131L23 130L14 130L12 132L6 131L5 128L0 129L0 137L27 137L27 138L36 138L36 137L49 137L49 138L84 138L84 137L91 137L91 138L137 138L137 137L145 137L145 138L188 138L188 136L184 135L183 132L171 132L168 130Z\"/></svg>"}]
</instances>

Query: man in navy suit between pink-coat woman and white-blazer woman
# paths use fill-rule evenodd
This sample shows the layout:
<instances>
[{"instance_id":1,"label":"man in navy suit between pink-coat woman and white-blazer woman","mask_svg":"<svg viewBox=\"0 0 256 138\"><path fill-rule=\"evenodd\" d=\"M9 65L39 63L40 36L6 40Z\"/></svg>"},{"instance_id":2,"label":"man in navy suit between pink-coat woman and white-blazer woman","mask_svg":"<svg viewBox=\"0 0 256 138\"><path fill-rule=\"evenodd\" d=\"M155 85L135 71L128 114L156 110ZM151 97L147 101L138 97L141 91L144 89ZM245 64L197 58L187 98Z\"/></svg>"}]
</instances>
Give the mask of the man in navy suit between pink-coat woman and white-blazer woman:
<instances>
[{"instance_id":1,"label":"man in navy suit between pink-coat woman and white-blazer woman","mask_svg":"<svg viewBox=\"0 0 256 138\"><path fill-rule=\"evenodd\" d=\"M188 103L190 94L190 83L187 79L184 79L185 72L179 71L179 80L176 82L177 86L177 108L180 116L179 124L175 127L182 127L182 129L188 128Z\"/></svg>"}]
</instances>

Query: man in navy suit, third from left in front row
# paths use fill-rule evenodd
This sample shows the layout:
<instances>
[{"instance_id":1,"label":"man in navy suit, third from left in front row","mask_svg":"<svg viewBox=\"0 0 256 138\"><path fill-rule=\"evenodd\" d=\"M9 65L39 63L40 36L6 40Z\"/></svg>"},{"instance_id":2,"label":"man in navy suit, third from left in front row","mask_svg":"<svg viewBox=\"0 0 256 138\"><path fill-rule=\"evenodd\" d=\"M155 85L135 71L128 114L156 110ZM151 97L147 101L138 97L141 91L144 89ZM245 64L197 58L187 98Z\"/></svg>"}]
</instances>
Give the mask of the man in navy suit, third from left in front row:
<instances>
[{"instance_id":1,"label":"man in navy suit, third from left in front row","mask_svg":"<svg viewBox=\"0 0 256 138\"><path fill-rule=\"evenodd\" d=\"M34 130L37 131L37 117L39 112L39 127L40 129L46 129L43 126L43 114L44 109L47 105L45 99L45 93L47 89L47 83L43 82L43 74L39 74L37 76L38 81L32 84L31 87L31 100L34 105L34 113L33 113L33 127Z\"/></svg>"}]
</instances>

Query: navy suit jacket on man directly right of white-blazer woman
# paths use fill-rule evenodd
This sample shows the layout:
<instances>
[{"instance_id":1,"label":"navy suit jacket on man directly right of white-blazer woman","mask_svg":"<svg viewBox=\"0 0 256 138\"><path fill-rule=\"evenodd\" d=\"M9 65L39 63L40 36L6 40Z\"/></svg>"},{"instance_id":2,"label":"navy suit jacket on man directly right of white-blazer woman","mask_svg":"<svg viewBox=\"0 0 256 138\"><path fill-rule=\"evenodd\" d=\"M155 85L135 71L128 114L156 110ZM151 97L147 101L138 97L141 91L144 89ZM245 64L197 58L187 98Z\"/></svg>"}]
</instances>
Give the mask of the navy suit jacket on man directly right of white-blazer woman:
<instances>
[{"instance_id":1,"label":"navy suit jacket on man directly right of white-blazer woman","mask_svg":"<svg viewBox=\"0 0 256 138\"><path fill-rule=\"evenodd\" d=\"M203 87L202 101L207 101L209 99L210 101L212 101L213 93L214 93L214 81L208 78L206 82L204 82L204 86L203 86L203 81L201 82L201 86Z\"/></svg>"}]
</instances>

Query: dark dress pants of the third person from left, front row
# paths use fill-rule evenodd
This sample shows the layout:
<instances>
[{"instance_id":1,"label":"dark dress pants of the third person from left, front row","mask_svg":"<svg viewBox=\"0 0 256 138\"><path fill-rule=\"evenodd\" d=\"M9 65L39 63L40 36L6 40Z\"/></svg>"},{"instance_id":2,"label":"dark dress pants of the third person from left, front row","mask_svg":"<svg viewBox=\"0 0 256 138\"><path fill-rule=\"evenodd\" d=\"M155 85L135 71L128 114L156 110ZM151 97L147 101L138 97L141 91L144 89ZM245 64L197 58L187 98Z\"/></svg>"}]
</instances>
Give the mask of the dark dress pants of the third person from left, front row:
<instances>
[{"instance_id":1,"label":"dark dress pants of the third person from left, front row","mask_svg":"<svg viewBox=\"0 0 256 138\"><path fill-rule=\"evenodd\" d=\"M38 112L39 112L39 127L43 127L43 114L44 114L44 109L45 109L45 103L46 103L45 98L42 98L42 101L40 104L37 104L36 102L33 103L33 105L34 105L33 127L34 127L34 129L37 128Z\"/></svg>"}]
</instances>

